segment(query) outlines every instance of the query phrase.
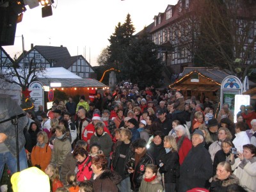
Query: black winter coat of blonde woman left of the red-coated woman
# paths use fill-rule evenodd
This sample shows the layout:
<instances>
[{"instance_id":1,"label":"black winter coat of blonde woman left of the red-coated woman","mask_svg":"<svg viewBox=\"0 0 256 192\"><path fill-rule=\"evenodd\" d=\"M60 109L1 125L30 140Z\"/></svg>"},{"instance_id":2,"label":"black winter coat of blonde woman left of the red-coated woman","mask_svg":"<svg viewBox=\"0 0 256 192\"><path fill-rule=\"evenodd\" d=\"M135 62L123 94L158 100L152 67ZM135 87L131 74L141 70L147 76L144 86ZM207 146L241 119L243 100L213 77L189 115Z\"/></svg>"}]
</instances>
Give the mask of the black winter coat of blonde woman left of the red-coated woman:
<instances>
[{"instance_id":1,"label":"black winter coat of blonde woman left of the red-coated woman","mask_svg":"<svg viewBox=\"0 0 256 192\"><path fill-rule=\"evenodd\" d=\"M163 163L163 166L159 164ZM166 154L165 150L159 154L157 157L157 166L160 173L164 173L164 183L176 183L179 180L179 154L177 152L168 152Z\"/></svg>"}]
</instances>

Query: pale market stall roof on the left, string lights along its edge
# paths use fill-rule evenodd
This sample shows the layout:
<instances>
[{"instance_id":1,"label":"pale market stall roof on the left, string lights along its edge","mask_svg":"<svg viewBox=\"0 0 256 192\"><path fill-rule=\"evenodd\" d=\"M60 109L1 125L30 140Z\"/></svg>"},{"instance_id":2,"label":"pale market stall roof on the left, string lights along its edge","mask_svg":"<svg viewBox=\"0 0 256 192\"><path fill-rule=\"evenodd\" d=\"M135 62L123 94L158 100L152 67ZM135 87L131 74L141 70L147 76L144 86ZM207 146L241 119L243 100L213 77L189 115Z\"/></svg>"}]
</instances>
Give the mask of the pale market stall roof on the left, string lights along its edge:
<instances>
[{"instance_id":1,"label":"pale market stall roof on the left, string lights along its edge","mask_svg":"<svg viewBox=\"0 0 256 192\"><path fill-rule=\"evenodd\" d=\"M106 84L100 83L95 79L82 78L63 67L46 68L43 74L37 77L44 86L51 83L61 83L61 87L95 87L104 88Z\"/></svg>"}]
</instances>

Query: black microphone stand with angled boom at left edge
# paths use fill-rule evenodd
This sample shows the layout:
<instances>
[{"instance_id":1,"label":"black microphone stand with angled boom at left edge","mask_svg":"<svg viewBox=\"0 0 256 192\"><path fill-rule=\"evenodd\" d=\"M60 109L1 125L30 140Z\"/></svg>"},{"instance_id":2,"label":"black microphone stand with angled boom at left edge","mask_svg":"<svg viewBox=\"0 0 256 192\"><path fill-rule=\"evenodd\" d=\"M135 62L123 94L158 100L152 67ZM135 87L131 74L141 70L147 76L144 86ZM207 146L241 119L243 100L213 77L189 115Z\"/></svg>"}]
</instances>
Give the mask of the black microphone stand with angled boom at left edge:
<instances>
[{"instance_id":1,"label":"black microphone stand with angled boom at left edge","mask_svg":"<svg viewBox=\"0 0 256 192\"><path fill-rule=\"evenodd\" d=\"M18 133L18 119L22 116L26 116L26 113L20 113L20 115L12 116L6 120L0 122L3 124L4 122L11 121L15 127L15 137L16 137L16 154L17 154L17 172L20 172L20 153L19 153L19 133Z\"/></svg>"}]
</instances>

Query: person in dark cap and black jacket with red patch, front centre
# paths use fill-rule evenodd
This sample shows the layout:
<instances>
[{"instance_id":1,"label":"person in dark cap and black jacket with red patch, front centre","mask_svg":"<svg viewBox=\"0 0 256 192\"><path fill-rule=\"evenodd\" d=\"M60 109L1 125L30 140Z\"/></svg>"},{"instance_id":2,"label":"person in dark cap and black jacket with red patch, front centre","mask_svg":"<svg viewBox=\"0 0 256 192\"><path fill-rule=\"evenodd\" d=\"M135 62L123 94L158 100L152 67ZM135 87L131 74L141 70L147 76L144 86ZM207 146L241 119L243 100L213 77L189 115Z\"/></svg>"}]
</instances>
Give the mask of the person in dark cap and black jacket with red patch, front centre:
<instances>
[{"instance_id":1,"label":"person in dark cap and black jacket with red patch, front centre","mask_svg":"<svg viewBox=\"0 0 256 192\"><path fill-rule=\"evenodd\" d=\"M154 164L154 159L147 152L147 142L138 138L132 142L134 153L127 161L126 168L131 181L131 190L139 191L147 164Z\"/></svg>"}]
</instances>

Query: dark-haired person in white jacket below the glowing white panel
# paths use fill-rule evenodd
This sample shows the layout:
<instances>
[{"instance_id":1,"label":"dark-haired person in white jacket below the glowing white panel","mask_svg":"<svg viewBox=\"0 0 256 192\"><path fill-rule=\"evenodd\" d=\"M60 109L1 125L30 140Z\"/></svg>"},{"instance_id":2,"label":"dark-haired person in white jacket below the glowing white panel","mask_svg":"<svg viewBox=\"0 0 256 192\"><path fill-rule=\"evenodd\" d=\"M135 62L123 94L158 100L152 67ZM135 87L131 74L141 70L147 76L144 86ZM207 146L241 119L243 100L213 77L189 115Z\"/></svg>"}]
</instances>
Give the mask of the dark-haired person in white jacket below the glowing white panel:
<instances>
[{"instance_id":1,"label":"dark-haired person in white jacket below the glowing white panel","mask_svg":"<svg viewBox=\"0 0 256 192\"><path fill-rule=\"evenodd\" d=\"M233 143L238 152L243 152L243 145L250 144L250 140L246 134L246 125L244 122L237 122L236 124L236 138Z\"/></svg>"}]
</instances>

